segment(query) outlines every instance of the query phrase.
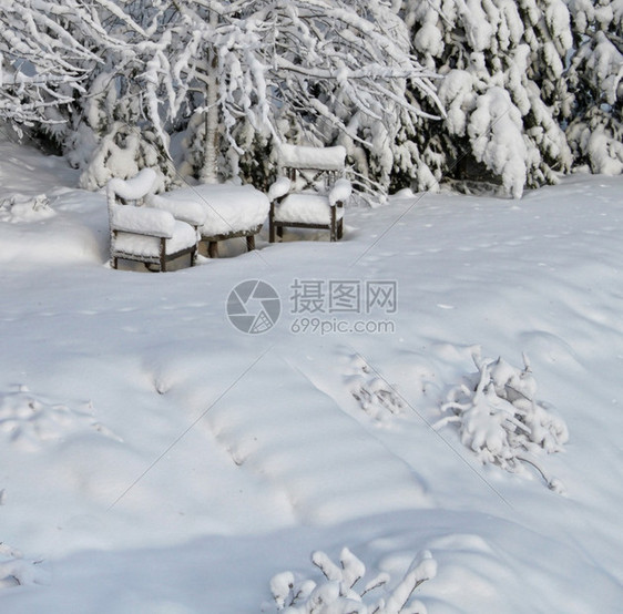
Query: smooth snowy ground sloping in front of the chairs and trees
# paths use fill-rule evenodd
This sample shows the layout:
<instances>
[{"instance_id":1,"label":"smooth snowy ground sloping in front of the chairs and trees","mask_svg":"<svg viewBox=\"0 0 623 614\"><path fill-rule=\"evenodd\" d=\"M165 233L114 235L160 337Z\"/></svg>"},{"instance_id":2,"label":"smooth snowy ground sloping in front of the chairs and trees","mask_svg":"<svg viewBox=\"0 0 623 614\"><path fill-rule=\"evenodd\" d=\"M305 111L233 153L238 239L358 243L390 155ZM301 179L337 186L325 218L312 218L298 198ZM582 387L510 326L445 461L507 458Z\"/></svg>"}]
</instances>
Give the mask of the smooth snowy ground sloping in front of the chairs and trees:
<instances>
[{"instance_id":1,"label":"smooth snowy ground sloping in front of the chairs and trees","mask_svg":"<svg viewBox=\"0 0 623 614\"><path fill-rule=\"evenodd\" d=\"M0 612L269 612L275 574L320 582L312 552L343 546L395 582L430 551L431 614L621 612L622 177L405 195L338 244L149 274L106 266L104 196L62 161L0 160ZM263 335L227 320L246 279L282 297ZM330 282L366 280L396 283L395 313L302 319L296 284L328 311ZM394 331L328 331L355 323ZM530 358L564 494L431 428L477 348Z\"/></svg>"}]
</instances>

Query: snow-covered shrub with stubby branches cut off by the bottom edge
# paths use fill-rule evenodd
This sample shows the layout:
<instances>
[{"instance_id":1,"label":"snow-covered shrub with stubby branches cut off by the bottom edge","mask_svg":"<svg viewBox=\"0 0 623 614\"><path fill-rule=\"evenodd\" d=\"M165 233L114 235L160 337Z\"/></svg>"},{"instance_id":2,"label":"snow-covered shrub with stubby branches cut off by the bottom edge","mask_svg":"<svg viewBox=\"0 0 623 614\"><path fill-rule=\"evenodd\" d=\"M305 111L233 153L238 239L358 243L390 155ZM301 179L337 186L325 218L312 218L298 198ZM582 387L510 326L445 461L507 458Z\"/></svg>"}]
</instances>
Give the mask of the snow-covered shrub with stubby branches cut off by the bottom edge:
<instances>
[{"instance_id":1,"label":"snow-covered shrub with stubby branches cut off by the bottom edge","mask_svg":"<svg viewBox=\"0 0 623 614\"><path fill-rule=\"evenodd\" d=\"M295 580L292 572L277 574L270 581L274 604L264 612L286 614L426 614L423 603L413 598L416 589L436 576L437 563L430 552L417 557L405 577L391 586L387 573L379 573L362 586L366 565L347 548L343 549L339 565L324 552L315 552L312 562L323 572L324 582ZM372 597L382 591L382 596Z\"/></svg>"}]
</instances>

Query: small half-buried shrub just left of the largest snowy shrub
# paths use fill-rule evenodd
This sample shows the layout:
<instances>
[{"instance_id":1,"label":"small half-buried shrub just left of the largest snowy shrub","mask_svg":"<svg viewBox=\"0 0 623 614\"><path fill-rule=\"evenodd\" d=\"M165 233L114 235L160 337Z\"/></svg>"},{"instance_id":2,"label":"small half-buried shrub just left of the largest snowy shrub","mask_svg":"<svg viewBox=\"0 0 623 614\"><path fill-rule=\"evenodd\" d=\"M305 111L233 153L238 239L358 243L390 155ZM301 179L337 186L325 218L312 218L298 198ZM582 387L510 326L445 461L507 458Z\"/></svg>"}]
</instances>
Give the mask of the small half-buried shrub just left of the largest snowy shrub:
<instances>
[{"instance_id":1,"label":"small half-buried shrub just left of the largest snowy shrub","mask_svg":"<svg viewBox=\"0 0 623 614\"><path fill-rule=\"evenodd\" d=\"M372 419L385 421L391 416L402 413L405 403L384 378L375 373L365 360L357 360L355 375L347 378L350 393L361 409Z\"/></svg>"}]
</instances>

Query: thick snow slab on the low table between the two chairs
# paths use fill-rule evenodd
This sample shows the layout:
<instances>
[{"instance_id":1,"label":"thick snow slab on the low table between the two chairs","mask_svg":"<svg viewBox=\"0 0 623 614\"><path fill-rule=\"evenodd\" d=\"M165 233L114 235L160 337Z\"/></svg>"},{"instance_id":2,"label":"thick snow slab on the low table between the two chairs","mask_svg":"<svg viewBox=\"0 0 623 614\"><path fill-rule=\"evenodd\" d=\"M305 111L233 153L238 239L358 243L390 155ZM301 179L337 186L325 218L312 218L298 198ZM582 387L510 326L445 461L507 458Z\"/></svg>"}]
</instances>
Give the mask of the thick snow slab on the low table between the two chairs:
<instances>
[{"instance_id":1,"label":"thick snow slab on the low table between the two chairs","mask_svg":"<svg viewBox=\"0 0 623 614\"><path fill-rule=\"evenodd\" d=\"M252 185L205 184L173 190L162 196L200 203L207 216L200 231L206 237L251 231L264 224L270 208L266 194Z\"/></svg>"}]
</instances>

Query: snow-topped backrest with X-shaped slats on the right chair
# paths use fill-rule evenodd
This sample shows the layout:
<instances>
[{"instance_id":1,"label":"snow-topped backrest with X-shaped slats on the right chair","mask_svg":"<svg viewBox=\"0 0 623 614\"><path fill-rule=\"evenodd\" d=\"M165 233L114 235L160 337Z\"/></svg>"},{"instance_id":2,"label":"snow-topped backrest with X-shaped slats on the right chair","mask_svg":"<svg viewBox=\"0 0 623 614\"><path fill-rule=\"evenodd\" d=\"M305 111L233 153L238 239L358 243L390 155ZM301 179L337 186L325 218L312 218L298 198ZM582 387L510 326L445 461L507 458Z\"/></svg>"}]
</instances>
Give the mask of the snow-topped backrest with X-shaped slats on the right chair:
<instances>
[{"instance_id":1,"label":"snow-topped backrest with X-shaped slats on the right chair","mask_svg":"<svg viewBox=\"0 0 623 614\"><path fill-rule=\"evenodd\" d=\"M308 145L280 145L279 166L296 185L296 190L314 187L328 191L344 175L346 149L313 147Z\"/></svg>"}]
</instances>

